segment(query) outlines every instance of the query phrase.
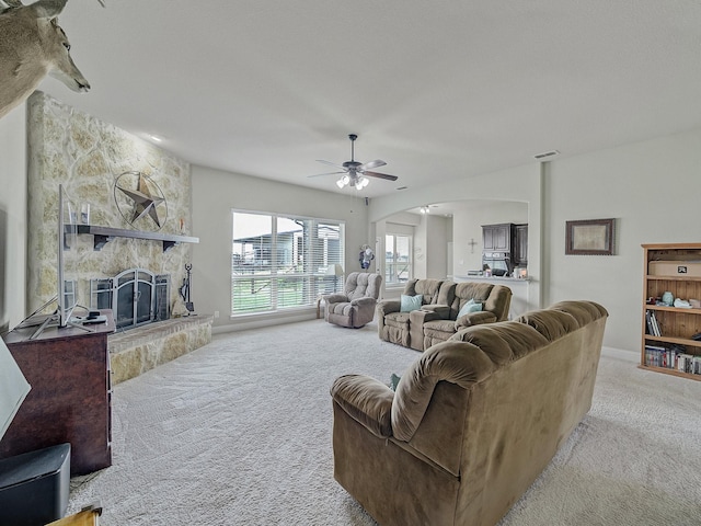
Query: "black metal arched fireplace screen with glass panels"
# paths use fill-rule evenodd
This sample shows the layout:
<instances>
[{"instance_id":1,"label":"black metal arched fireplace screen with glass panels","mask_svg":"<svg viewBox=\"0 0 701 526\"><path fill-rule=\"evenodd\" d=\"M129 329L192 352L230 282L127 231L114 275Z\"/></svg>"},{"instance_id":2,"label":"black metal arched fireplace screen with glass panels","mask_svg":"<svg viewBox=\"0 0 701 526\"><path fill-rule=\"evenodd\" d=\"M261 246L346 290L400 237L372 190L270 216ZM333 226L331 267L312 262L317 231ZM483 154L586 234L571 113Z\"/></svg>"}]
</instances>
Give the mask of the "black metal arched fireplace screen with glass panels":
<instances>
[{"instance_id":1,"label":"black metal arched fireplace screen with glass panels","mask_svg":"<svg viewBox=\"0 0 701 526\"><path fill-rule=\"evenodd\" d=\"M90 308L112 309L117 329L170 318L170 276L129 268L115 277L91 279Z\"/></svg>"}]
</instances>

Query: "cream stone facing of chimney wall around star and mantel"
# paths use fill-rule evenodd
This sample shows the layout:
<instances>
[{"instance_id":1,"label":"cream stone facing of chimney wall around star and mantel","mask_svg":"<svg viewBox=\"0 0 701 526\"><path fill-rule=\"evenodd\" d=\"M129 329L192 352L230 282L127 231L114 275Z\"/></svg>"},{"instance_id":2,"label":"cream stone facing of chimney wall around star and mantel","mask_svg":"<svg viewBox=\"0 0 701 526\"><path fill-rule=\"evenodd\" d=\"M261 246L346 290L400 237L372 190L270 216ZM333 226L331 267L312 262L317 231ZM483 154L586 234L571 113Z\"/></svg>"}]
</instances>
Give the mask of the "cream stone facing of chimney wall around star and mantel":
<instances>
[{"instance_id":1,"label":"cream stone facing of chimney wall around star and mantel","mask_svg":"<svg viewBox=\"0 0 701 526\"><path fill-rule=\"evenodd\" d=\"M147 222L139 229L193 236L191 168L182 159L42 92L27 101L27 140L31 310L57 290L59 184L77 207L90 204L91 225L134 230L115 203L114 183L124 172L142 172L160 186L168 217L160 229ZM170 274L171 311L174 316L185 312L177 288L185 277L185 264L192 261L192 244L163 252L159 241L116 238L95 251L90 235L78 236L73 244L66 252L66 278L77 279L80 305L90 304L91 278L140 267Z\"/></svg>"}]
</instances>

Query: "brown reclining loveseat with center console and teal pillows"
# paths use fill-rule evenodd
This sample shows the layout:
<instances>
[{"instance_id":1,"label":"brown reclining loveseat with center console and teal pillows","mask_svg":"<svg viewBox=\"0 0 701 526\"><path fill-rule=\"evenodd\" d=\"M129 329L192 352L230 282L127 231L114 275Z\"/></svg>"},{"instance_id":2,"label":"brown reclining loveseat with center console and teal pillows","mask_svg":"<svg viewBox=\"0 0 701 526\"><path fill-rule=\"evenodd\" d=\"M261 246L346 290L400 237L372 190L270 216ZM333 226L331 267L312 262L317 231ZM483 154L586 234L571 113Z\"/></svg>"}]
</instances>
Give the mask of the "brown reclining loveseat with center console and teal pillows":
<instances>
[{"instance_id":1,"label":"brown reclining loveseat with center console and teal pillows","mask_svg":"<svg viewBox=\"0 0 701 526\"><path fill-rule=\"evenodd\" d=\"M439 279L411 279L405 296L423 295L420 309L401 311L401 301L388 299L376 307L378 334L381 340L424 351L448 340L466 327L504 321L508 317L512 289L492 283L453 283ZM458 316L470 300L482 310Z\"/></svg>"}]
</instances>

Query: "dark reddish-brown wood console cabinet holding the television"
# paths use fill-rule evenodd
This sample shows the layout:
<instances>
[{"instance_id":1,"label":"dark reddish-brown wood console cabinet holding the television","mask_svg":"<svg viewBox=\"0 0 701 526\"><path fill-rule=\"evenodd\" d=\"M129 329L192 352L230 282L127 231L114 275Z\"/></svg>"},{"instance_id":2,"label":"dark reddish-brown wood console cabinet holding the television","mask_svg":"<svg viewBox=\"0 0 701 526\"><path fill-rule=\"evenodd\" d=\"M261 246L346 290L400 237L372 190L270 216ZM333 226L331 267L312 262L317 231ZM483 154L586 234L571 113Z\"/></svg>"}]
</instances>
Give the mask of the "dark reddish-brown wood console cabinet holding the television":
<instances>
[{"instance_id":1,"label":"dark reddish-brown wood console cabinet holding the television","mask_svg":"<svg viewBox=\"0 0 701 526\"><path fill-rule=\"evenodd\" d=\"M71 477L112 465L112 388L106 323L80 328L14 329L8 348L32 386L0 441L0 458L70 443Z\"/></svg>"}]
</instances>

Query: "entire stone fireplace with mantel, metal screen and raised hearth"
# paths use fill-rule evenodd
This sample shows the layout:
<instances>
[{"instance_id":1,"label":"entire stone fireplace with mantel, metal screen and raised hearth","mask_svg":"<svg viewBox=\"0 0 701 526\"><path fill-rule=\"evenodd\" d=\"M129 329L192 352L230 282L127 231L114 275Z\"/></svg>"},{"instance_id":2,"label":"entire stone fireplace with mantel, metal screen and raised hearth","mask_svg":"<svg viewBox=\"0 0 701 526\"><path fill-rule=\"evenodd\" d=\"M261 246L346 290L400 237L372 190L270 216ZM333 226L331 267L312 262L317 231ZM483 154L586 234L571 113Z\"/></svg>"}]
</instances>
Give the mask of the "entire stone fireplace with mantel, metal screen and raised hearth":
<instances>
[{"instance_id":1,"label":"entire stone fireplace with mantel, metal screen and raised hearth","mask_svg":"<svg viewBox=\"0 0 701 526\"><path fill-rule=\"evenodd\" d=\"M171 286L192 261L189 164L41 91L27 100L27 308L56 295L60 184L74 210L90 205L90 225L81 222L64 249L65 277L79 305L112 309L123 329L107 339L113 384L211 341L212 317L186 316ZM162 191L160 225L148 214L135 225L120 211L115 187L127 172Z\"/></svg>"}]
</instances>

